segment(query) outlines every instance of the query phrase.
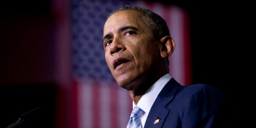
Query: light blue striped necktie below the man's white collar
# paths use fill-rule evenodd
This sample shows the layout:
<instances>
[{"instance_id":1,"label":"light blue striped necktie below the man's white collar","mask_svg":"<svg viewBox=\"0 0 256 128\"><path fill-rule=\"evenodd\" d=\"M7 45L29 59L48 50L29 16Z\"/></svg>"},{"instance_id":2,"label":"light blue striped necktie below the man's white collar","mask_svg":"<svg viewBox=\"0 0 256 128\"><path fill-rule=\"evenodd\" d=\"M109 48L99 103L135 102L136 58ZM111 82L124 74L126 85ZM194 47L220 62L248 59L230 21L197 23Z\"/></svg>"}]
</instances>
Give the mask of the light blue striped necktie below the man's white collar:
<instances>
[{"instance_id":1,"label":"light blue striped necktie below the man's white collar","mask_svg":"<svg viewBox=\"0 0 256 128\"><path fill-rule=\"evenodd\" d=\"M142 128L141 126L141 115L145 113L141 108L135 106L132 110L130 120L126 128Z\"/></svg>"}]
</instances>

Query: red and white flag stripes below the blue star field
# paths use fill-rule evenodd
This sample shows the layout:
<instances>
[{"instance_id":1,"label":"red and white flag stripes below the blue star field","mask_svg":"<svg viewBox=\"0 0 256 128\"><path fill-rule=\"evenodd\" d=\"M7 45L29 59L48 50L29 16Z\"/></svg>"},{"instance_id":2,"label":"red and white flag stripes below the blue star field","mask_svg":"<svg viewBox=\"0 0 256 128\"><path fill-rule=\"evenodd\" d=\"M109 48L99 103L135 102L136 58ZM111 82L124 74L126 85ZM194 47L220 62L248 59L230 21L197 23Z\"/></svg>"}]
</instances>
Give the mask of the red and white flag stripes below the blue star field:
<instances>
[{"instance_id":1,"label":"red and white flag stripes below the blue star field","mask_svg":"<svg viewBox=\"0 0 256 128\"><path fill-rule=\"evenodd\" d=\"M77 84L78 127L126 127L132 110L132 100L127 90L119 87L115 82L100 81L98 83L97 85L93 80L86 80ZM99 99L95 99L96 95ZM111 122L116 123L115 127Z\"/></svg>"}]
</instances>

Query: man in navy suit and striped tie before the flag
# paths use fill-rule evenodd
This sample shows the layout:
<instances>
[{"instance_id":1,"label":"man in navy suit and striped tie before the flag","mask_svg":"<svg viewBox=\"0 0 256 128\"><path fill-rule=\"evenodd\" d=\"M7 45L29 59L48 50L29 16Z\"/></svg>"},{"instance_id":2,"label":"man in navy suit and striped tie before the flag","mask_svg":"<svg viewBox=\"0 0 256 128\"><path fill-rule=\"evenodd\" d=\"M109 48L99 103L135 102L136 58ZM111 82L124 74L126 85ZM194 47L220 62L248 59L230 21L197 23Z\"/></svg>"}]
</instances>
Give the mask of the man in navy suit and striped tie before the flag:
<instances>
[{"instance_id":1,"label":"man in navy suit and striped tie before the flag","mask_svg":"<svg viewBox=\"0 0 256 128\"><path fill-rule=\"evenodd\" d=\"M102 43L113 77L130 93L134 110L142 114L135 114L138 118L131 119L128 126L230 126L229 117L222 113L226 110L229 116L229 108L219 90L204 84L182 86L169 75L168 57L175 43L166 22L156 13L128 5L115 9L104 24Z\"/></svg>"}]
</instances>

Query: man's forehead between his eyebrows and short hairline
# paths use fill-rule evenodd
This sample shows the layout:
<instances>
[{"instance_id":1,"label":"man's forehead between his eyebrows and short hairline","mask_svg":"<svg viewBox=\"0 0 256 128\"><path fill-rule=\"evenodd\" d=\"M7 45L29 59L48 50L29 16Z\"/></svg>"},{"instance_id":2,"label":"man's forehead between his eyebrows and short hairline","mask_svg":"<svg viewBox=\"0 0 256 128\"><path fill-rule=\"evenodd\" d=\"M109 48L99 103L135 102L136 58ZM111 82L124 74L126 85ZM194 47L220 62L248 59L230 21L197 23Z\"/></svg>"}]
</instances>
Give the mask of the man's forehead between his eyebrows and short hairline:
<instances>
[{"instance_id":1,"label":"man's forehead between his eyebrows and short hairline","mask_svg":"<svg viewBox=\"0 0 256 128\"><path fill-rule=\"evenodd\" d=\"M104 33L110 29L118 29L121 26L135 26L138 29L146 24L141 19L139 11L125 10L112 14L104 24Z\"/></svg>"}]
</instances>

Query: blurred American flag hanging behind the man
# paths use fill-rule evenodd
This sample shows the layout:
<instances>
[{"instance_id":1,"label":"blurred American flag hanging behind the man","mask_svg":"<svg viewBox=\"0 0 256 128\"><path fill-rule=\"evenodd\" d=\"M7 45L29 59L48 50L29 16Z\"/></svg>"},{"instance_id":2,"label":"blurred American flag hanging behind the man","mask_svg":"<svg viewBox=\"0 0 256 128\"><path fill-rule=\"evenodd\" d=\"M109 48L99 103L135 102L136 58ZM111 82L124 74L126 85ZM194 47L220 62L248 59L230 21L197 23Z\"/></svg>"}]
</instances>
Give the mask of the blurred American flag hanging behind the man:
<instances>
[{"instance_id":1,"label":"blurred American flag hanging behind the man","mask_svg":"<svg viewBox=\"0 0 256 128\"><path fill-rule=\"evenodd\" d=\"M146 7L166 20L176 43L169 57L170 75L183 85L191 84L189 19L181 7L143 0L73 0L72 65L77 128L126 128L129 121L132 100L111 75L102 46L108 14L124 4Z\"/></svg>"}]
</instances>

